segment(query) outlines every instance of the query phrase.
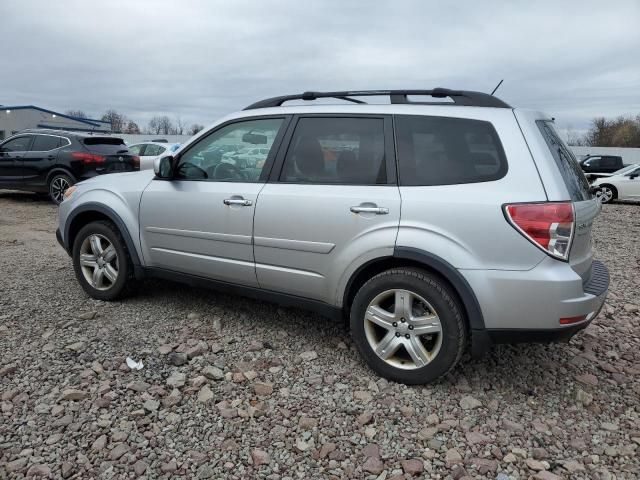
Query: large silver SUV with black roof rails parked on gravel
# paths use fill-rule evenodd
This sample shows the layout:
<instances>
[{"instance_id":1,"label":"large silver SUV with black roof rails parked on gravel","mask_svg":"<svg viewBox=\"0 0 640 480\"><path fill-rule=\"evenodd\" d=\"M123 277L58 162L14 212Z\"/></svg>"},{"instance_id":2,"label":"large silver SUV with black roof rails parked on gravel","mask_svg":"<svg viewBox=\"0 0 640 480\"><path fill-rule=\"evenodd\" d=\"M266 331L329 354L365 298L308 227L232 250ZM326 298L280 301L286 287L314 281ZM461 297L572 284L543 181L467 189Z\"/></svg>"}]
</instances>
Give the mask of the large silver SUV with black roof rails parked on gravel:
<instances>
[{"instance_id":1,"label":"large silver SUV with black roof rails parked on gravel","mask_svg":"<svg viewBox=\"0 0 640 480\"><path fill-rule=\"evenodd\" d=\"M223 118L153 172L71 187L57 236L94 298L154 276L348 318L371 368L425 383L467 348L585 328L609 284L600 208L542 113L469 91L307 92Z\"/></svg>"}]
</instances>

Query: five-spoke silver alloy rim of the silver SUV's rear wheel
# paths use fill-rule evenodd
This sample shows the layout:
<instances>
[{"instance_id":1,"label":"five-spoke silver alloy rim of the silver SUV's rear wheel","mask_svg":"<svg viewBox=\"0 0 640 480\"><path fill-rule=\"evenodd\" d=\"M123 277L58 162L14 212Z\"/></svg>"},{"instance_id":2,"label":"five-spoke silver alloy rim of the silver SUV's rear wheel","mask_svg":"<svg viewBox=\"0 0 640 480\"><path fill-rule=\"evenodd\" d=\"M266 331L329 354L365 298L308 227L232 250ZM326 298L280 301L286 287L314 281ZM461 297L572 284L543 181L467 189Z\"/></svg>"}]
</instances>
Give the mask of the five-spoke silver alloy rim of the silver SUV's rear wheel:
<instances>
[{"instance_id":1,"label":"five-spoke silver alloy rim of the silver SUV's rear wheel","mask_svg":"<svg viewBox=\"0 0 640 480\"><path fill-rule=\"evenodd\" d=\"M435 309L415 292L386 290L367 307L365 334L387 364L407 370L427 365L442 346L442 325Z\"/></svg>"}]
</instances>

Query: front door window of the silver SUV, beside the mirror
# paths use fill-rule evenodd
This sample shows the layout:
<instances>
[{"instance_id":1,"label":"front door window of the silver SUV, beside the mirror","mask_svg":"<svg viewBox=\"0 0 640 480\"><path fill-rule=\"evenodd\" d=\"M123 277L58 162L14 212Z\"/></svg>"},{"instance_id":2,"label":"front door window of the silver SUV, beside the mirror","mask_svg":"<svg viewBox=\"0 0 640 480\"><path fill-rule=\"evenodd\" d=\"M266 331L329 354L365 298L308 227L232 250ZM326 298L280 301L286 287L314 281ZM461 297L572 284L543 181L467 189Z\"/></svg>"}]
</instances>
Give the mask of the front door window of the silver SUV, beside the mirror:
<instances>
[{"instance_id":1,"label":"front door window of the silver SUV, beside the mirror","mask_svg":"<svg viewBox=\"0 0 640 480\"><path fill-rule=\"evenodd\" d=\"M176 178L225 182L266 180L264 166L282 118L247 120L226 125L180 155ZM264 147L258 149L256 146Z\"/></svg>"}]
</instances>

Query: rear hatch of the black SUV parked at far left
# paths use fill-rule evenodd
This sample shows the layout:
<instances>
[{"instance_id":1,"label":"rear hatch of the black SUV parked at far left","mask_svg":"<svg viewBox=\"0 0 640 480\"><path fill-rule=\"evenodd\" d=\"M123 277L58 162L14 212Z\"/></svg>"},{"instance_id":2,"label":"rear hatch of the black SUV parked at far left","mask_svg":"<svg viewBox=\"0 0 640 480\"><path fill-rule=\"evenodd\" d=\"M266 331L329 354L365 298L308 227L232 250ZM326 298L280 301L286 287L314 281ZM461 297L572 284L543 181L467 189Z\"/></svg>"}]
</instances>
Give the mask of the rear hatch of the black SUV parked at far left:
<instances>
[{"instance_id":1,"label":"rear hatch of the black SUV parked at far left","mask_svg":"<svg viewBox=\"0 0 640 480\"><path fill-rule=\"evenodd\" d=\"M86 137L82 144L90 153L87 164L98 173L131 172L140 170L140 158L129 152L124 140L116 137Z\"/></svg>"}]
</instances>

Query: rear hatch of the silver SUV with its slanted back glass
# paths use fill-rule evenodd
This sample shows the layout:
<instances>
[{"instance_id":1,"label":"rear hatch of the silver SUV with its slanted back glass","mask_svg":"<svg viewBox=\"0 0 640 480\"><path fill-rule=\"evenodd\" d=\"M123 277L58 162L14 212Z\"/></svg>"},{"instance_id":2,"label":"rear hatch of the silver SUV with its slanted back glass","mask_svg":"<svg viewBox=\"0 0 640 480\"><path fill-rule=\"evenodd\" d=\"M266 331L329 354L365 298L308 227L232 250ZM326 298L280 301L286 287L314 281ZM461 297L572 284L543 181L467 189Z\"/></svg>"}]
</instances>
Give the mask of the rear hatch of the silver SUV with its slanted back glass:
<instances>
[{"instance_id":1,"label":"rear hatch of the silver SUV with its slanted back glass","mask_svg":"<svg viewBox=\"0 0 640 480\"><path fill-rule=\"evenodd\" d=\"M591 231L593 222L602 208L600 201L591 194L589 182L578 160L562 141L551 120L536 120L560 175L567 187L575 213L574 234L569 251L571 268L582 277L583 283L591 278L593 246Z\"/></svg>"}]
</instances>

